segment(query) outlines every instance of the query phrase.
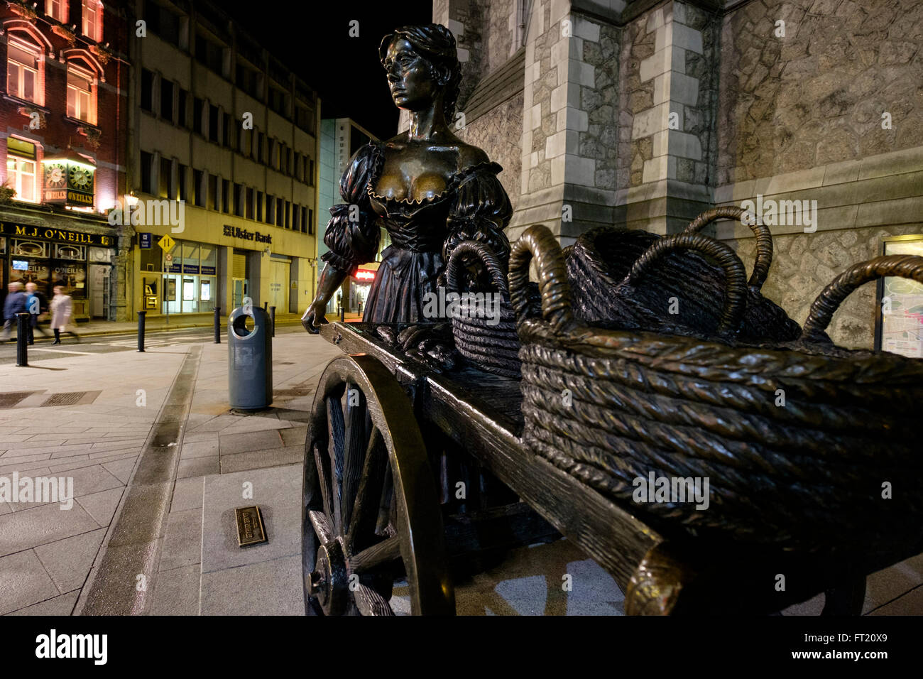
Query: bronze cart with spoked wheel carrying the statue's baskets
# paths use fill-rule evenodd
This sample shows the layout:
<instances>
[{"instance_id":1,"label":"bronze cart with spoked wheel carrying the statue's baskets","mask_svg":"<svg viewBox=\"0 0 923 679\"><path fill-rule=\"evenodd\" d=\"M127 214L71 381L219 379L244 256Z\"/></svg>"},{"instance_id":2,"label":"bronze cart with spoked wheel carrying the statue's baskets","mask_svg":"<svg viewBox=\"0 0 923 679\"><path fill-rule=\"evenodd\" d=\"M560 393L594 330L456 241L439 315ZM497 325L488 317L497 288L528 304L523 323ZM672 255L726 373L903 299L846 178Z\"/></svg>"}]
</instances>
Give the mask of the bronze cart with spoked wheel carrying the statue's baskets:
<instances>
[{"instance_id":1,"label":"bronze cart with spoked wheel carrying the statue's baskets","mask_svg":"<svg viewBox=\"0 0 923 679\"><path fill-rule=\"evenodd\" d=\"M321 329L347 356L324 370L308 427L308 613L393 614L405 579L413 613L452 614L453 574L557 531L616 579L629 614L771 613L822 591L826 614L858 614L865 576L895 561L743 547L641 520L530 453L520 382L438 372L375 328Z\"/></svg>"}]
</instances>

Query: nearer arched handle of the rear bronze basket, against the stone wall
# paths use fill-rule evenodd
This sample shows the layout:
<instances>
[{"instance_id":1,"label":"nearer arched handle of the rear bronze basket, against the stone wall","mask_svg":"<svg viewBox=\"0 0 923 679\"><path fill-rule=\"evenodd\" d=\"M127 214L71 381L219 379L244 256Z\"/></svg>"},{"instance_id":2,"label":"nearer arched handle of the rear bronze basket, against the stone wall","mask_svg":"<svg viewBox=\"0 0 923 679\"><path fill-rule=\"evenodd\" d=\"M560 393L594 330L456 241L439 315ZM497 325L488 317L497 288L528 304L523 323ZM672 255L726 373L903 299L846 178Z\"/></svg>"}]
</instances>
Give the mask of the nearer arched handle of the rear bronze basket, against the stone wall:
<instances>
[{"instance_id":1,"label":"nearer arched handle of the rear bronze basket, against the stone wall","mask_svg":"<svg viewBox=\"0 0 923 679\"><path fill-rule=\"evenodd\" d=\"M664 236L644 250L631 271L622 281L626 285L637 285L641 276L648 273L653 264L663 259L667 252L674 249L694 249L717 261L725 270L725 308L721 312L718 333L726 334L737 331L743 319L747 299L747 271L743 262L721 241L701 234L676 234Z\"/></svg>"}]
</instances>

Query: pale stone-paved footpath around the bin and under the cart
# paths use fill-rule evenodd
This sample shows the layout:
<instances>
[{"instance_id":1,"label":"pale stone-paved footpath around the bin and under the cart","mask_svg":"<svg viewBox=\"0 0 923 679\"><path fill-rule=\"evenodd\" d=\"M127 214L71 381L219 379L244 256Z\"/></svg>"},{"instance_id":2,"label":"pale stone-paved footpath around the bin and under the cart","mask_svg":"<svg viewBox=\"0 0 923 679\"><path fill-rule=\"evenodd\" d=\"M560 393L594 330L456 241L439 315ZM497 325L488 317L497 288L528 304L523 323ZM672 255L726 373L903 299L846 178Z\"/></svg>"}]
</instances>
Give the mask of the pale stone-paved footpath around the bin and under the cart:
<instances>
[{"instance_id":1,"label":"pale stone-paved footpath around the bin and under the cart","mask_svg":"<svg viewBox=\"0 0 923 679\"><path fill-rule=\"evenodd\" d=\"M69 509L0 502L0 614L303 614L306 419L339 355L300 327L279 329L272 407L248 416L228 406L225 343L0 365L0 484L54 476L74 491ZM270 540L241 549L234 507L254 503ZM394 595L406 612L406 588ZM624 597L559 540L511 552L457 584L456 599L462 614L619 615ZM870 576L864 612L923 612L923 556Z\"/></svg>"}]
</instances>

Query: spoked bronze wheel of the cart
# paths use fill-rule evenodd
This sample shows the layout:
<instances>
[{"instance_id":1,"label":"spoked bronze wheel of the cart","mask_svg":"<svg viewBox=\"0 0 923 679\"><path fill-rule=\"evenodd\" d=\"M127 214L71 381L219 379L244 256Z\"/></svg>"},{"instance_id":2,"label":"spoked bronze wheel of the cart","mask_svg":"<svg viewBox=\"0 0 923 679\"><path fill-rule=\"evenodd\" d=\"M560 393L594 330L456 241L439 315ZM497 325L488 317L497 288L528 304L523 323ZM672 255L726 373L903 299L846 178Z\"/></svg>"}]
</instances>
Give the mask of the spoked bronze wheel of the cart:
<instances>
[{"instance_id":1,"label":"spoked bronze wheel of the cart","mask_svg":"<svg viewBox=\"0 0 923 679\"><path fill-rule=\"evenodd\" d=\"M414 615L455 613L442 515L407 394L375 358L334 358L305 444L306 612L393 615L406 576Z\"/></svg>"}]
</instances>

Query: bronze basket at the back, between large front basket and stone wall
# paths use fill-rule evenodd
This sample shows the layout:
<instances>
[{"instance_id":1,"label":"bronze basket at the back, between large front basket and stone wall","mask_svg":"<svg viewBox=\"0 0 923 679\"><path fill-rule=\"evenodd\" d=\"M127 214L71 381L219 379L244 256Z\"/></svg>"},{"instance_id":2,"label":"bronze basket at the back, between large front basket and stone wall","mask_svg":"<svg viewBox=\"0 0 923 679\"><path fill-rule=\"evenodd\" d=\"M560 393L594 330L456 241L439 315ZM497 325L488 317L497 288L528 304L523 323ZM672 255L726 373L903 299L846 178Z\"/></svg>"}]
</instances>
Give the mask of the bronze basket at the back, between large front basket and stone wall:
<instances>
[{"instance_id":1,"label":"bronze basket at the back, between large front basket and stone wall","mask_svg":"<svg viewBox=\"0 0 923 679\"><path fill-rule=\"evenodd\" d=\"M722 207L702 212L684 234L695 234L717 219L740 219L747 212L741 208ZM762 297L761 286L773 261L773 237L763 224L748 220L757 238L757 256L747 284L747 295L740 328L740 338L750 342L785 342L797 339L801 328L788 318L783 309ZM632 264L659 240L660 236L643 231L612 226L583 234L567 256L570 285L577 294L574 313L583 321L617 319L622 310L620 299L611 295L622 282ZM713 333L724 307L722 296L725 279L721 269L695 252L674 252L653 273L648 287L662 297L677 297L680 325Z\"/></svg>"}]
</instances>

